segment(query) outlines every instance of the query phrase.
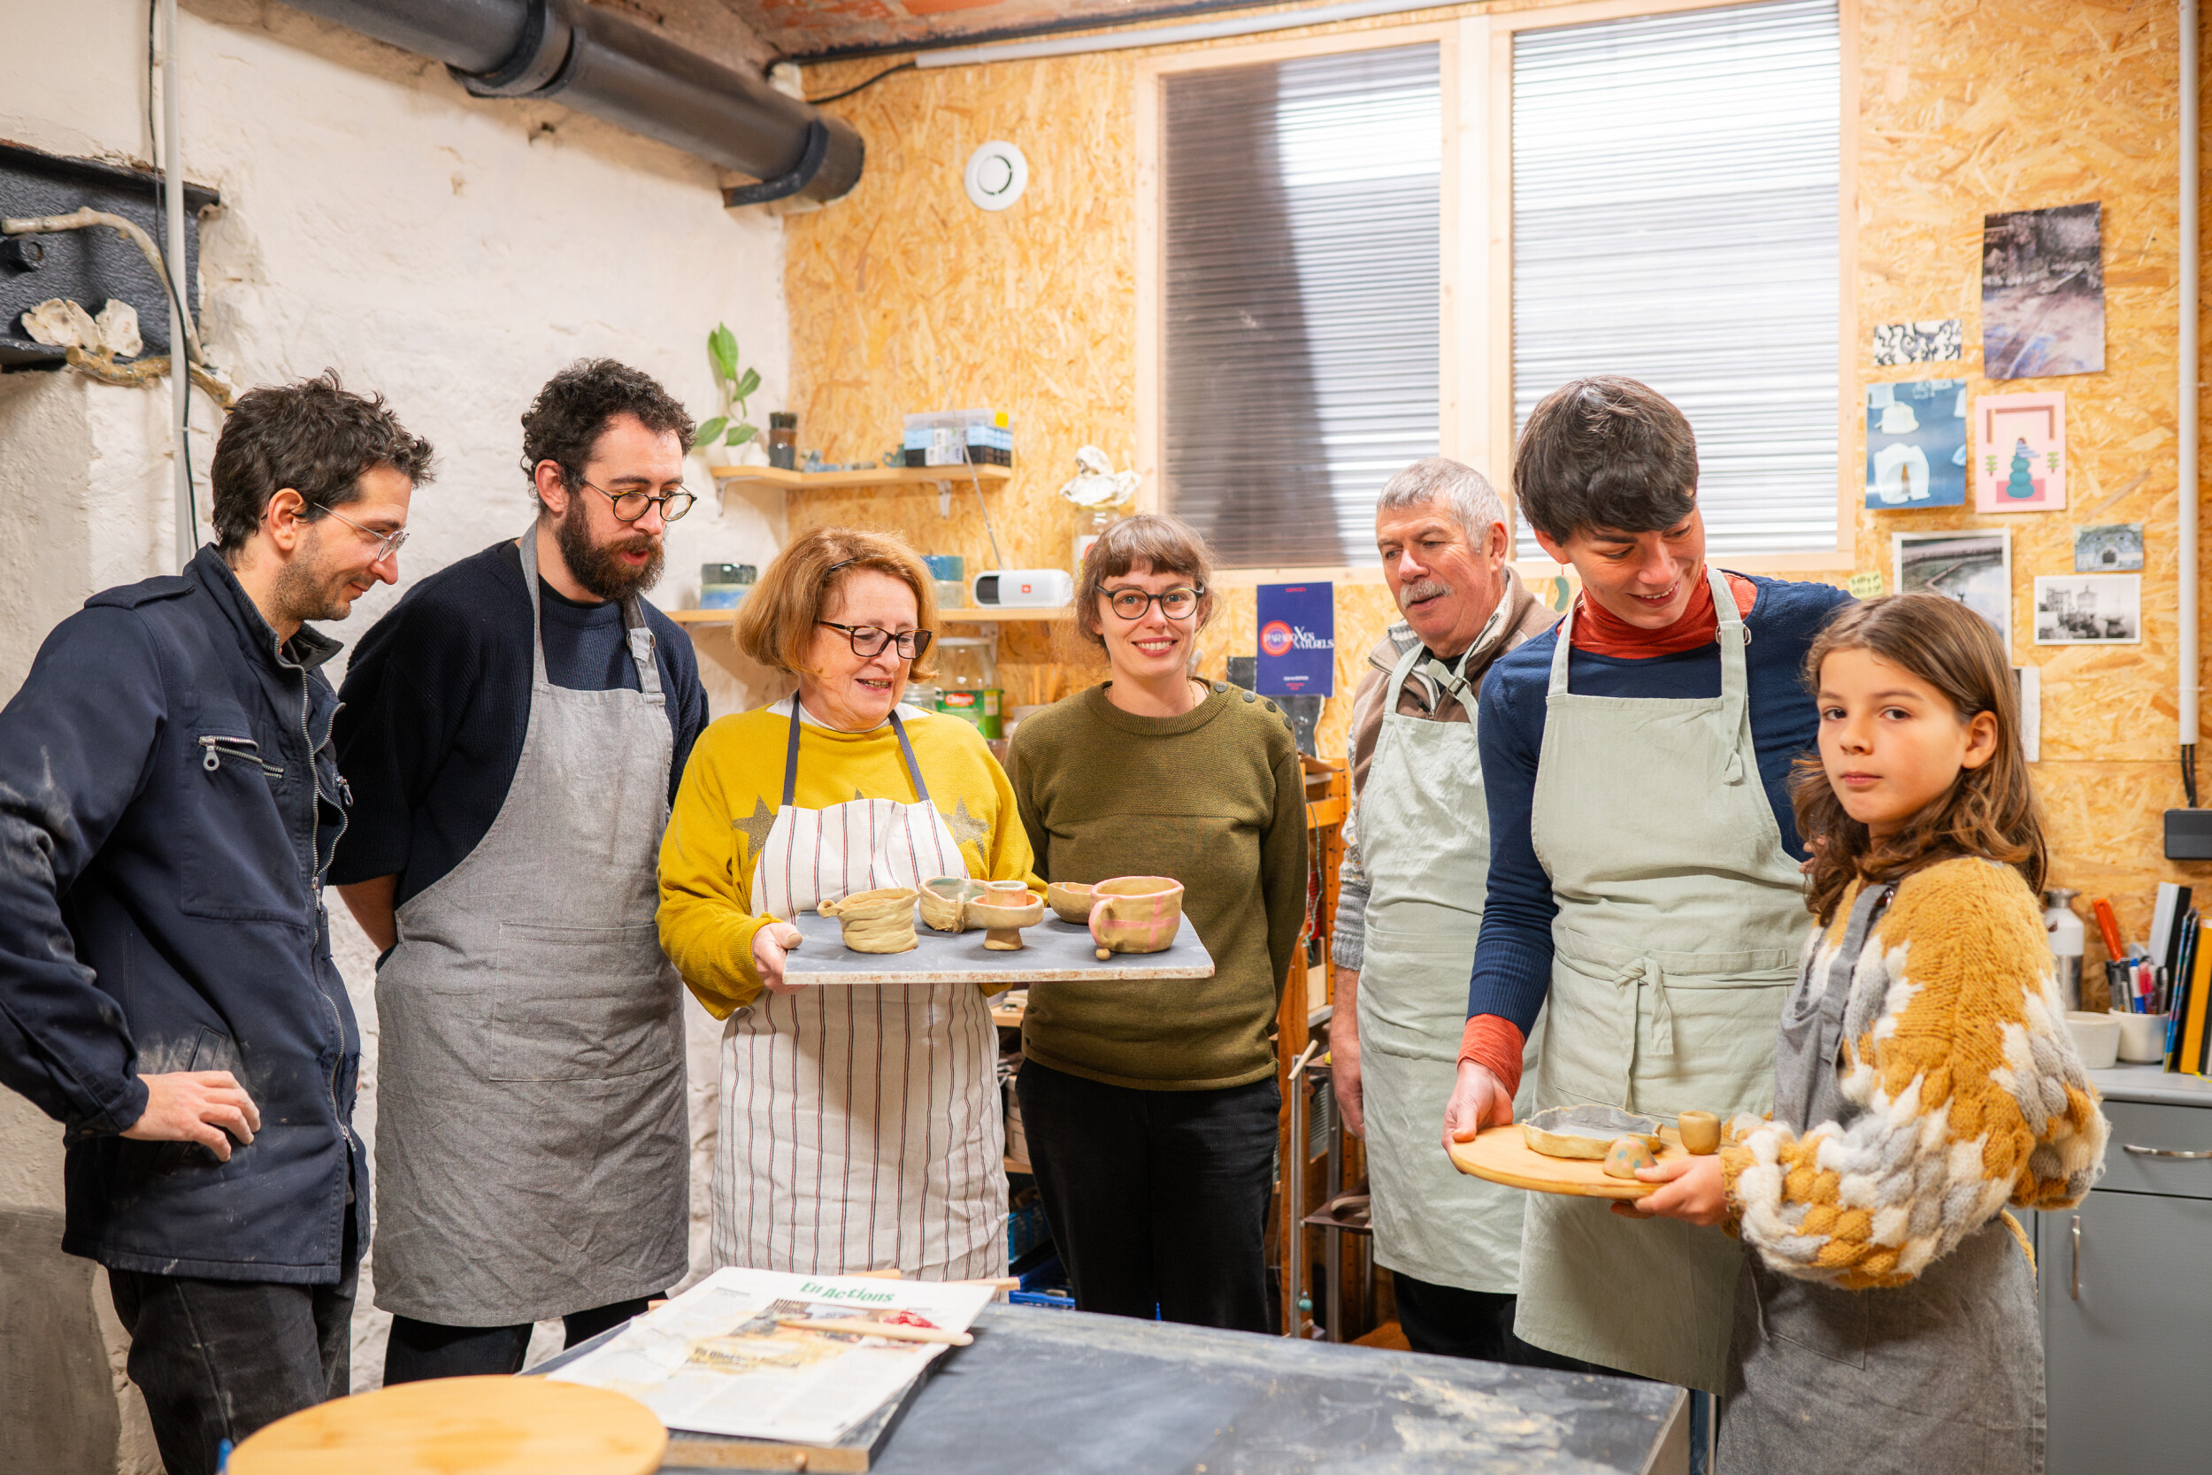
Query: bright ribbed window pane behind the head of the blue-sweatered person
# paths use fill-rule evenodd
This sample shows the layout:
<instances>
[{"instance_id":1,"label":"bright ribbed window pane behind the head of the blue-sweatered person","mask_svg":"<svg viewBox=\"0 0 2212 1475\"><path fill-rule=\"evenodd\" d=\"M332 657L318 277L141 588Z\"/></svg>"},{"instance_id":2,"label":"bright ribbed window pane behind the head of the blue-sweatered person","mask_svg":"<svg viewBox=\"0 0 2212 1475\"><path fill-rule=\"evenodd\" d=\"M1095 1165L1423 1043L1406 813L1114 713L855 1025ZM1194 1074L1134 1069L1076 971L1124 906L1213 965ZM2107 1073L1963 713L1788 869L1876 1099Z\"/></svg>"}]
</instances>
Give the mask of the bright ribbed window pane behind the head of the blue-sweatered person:
<instances>
[{"instance_id":1,"label":"bright ribbed window pane behind the head of the blue-sweatered person","mask_svg":"<svg viewBox=\"0 0 2212 1475\"><path fill-rule=\"evenodd\" d=\"M1513 38L1515 436L1571 378L1648 383L1712 553L1836 546L1840 46L1834 0Z\"/></svg>"}]
</instances>

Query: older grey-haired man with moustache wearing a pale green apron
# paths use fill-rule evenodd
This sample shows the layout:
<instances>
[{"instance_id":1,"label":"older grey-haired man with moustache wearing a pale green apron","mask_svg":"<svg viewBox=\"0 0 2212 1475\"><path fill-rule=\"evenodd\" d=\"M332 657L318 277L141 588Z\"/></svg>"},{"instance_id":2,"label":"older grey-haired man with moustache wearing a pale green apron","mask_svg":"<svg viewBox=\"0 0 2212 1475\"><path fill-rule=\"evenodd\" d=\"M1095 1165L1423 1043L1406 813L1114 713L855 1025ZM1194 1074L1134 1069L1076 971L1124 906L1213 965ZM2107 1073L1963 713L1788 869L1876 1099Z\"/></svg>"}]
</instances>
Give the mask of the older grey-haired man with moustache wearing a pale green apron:
<instances>
[{"instance_id":1,"label":"older grey-haired man with moustache wearing a pale green apron","mask_svg":"<svg viewBox=\"0 0 2212 1475\"><path fill-rule=\"evenodd\" d=\"M1336 1101L1367 1139L1374 1252L1413 1351L1573 1367L1513 1336L1522 1194L1462 1176L1436 1119L1460 1057L1489 880L1475 688L1557 615L1506 564L1504 506L1482 473L1431 456L1376 506L1394 624L1352 703L1352 796L1336 909ZM1528 1070L1542 1022L1528 1033Z\"/></svg>"}]
</instances>

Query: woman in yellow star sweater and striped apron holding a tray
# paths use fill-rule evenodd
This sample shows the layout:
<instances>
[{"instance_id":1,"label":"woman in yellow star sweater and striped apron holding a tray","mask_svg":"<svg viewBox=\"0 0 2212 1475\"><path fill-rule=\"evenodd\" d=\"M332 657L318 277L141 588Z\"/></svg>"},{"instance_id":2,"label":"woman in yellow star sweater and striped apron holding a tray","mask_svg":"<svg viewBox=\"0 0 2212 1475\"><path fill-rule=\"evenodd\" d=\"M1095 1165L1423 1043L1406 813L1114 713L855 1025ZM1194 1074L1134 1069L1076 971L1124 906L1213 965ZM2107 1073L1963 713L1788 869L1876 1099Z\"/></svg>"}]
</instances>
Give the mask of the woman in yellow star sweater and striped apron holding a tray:
<instances>
[{"instance_id":1,"label":"woman in yellow star sweater and striped apron holding a tray","mask_svg":"<svg viewBox=\"0 0 2212 1475\"><path fill-rule=\"evenodd\" d=\"M816 529L745 599L737 644L799 692L712 723L661 840L661 946L723 1019L714 1265L1006 1269L998 1031L973 984L794 986L790 918L933 876L1022 880L1006 774L929 677L936 599L900 542Z\"/></svg>"}]
</instances>

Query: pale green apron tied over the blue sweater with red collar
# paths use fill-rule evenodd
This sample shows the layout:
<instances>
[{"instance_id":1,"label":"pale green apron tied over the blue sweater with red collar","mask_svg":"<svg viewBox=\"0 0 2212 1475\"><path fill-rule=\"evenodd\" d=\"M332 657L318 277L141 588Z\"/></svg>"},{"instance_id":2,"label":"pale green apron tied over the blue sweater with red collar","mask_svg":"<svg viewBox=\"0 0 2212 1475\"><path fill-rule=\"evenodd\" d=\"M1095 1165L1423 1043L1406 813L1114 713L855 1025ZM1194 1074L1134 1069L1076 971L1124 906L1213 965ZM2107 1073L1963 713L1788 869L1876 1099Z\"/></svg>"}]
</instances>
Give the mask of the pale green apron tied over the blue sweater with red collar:
<instances>
[{"instance_id":1,"label":"pale green apron tied over the blue sweater with red collar","mask_svg":"<svg viewBox=\"0 0 2212 1475\"><path fill-rule=\"evenodd\" d=\"M1535 1101L1672 1119L1765 1112L1805 891L1759 781L1728 579L1721 694L1575 697L1559 621L1528 827L1559 907ZM1672 1218L1528 1194L1513 1329L1568 1358L1719 1393L1743 1252Z\"/></svg>"}]
</instances>

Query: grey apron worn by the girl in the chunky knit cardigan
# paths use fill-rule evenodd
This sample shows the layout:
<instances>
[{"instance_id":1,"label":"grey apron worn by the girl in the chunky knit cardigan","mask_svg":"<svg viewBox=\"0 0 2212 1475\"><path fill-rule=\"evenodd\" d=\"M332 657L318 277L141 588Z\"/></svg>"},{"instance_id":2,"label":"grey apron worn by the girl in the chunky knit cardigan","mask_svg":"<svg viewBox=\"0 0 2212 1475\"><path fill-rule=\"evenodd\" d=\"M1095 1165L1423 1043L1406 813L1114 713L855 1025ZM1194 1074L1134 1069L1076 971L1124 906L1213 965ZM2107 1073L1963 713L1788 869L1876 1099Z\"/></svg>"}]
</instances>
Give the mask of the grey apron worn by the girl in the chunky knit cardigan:
<instances>
[{"instance_id":1,"label":"grey apron worn by the girl in the chunky knit cardigan","mask_svg":"<svg viewBox=\"0 0 2212 1475\"><path fill-rule=\"evenodd\" d=\"M1867 887L1825 977L1814 960L1783 1013L1774 1119L1849 1126L1840 1055L1880 1015L1851 988L1893 887ZM2002 1218L1898 1287L1847 1291L1745 1256L1721 1400L1728 1475L2037 1475L2044 1338L2035 1272Z\"/></svg>"}]
</instances>

